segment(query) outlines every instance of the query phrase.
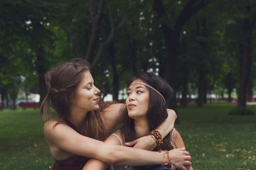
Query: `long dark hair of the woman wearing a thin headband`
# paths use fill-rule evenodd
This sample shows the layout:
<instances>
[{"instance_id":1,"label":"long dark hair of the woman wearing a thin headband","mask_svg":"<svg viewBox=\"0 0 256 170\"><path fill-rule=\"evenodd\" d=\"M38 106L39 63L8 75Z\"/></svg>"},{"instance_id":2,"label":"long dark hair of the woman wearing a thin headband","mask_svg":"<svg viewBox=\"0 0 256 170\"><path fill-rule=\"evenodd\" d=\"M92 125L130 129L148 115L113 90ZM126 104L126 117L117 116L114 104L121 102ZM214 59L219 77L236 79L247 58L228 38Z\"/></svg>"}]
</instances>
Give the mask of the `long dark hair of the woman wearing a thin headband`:
<instances>
[{"instance_id":1,"label":"long dark hair of the woman wearing a thin headband","mask_svg":"<svg viewBox=\"0 0 256 170\"><path fill-rule=\"evenodd\" d=\"M142 72L137 74L136 76L132 77L127 81L127 88L132 81L141 79L143 83L148 84L149 86L154 87L157 91L164 96L164 99L167 101L169 97L173 95L173 89L171 86L159 76L156 76L153 73ZM156 93L153 89L146 86L149 89L149 108L146 113L146 119L149 122L149 130L154 130L164 123L164 120L168 117L168 113L166 111L166 103L164 102L163 98ZM135 140L137 137L135 136L135 129L134 129L134 120L129 118L127 108L123 109L125 112L124 118L124 127L122 128L122 133L124 134L125 140L132 141ZM162 149L171 149L171 141L170 136L166 136L164 138L164 145Z\"/></svg>"}]
</instances>

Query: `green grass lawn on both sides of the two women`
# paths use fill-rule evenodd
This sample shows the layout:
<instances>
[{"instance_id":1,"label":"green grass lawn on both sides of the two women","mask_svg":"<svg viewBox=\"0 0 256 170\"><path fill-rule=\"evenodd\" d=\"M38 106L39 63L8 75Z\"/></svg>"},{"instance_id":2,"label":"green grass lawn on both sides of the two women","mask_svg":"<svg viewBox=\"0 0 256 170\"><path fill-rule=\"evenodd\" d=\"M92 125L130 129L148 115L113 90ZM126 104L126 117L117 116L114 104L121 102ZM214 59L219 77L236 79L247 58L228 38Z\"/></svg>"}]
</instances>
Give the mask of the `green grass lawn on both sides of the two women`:
<instances>
[{"instance_id":1,"label":"green grass lawn on both sides of the two women","mask_svg":"<svg viewBox=\"0 0 256 170\"><path fill-rule=\"evenodd\" d=\"M228 115L234 105L179 108L176 129L191 153L193 169L255 169L256 115ZM256 106L247 106L256 112ZM0 111L0 169L51 169L38 109Z\"/></svg>"}]
</instances>

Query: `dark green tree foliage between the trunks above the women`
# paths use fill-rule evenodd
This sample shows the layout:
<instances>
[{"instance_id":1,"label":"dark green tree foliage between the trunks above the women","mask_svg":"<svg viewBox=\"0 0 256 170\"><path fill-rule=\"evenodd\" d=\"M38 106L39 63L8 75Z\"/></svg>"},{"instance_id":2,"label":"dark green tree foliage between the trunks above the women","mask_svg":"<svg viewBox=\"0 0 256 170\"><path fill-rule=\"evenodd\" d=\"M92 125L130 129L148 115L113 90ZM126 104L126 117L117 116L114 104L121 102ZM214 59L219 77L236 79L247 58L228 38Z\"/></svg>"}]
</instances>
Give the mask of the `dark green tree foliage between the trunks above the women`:
<instances>
[{"instance_id":1,"label":"dark green tree foliage between the trunks above the women","mask_svg":"<svg viewBox=\"0 0 256 170\"><path fill-rule=\"evenodd\" d=\"M204 0L196 1L196 4L201 1ZM163 0L169 22L167 26L172 30L188 2L191 0ZM189 18L177 42L178 76L175 81L178 91L182 89L184 75L188 74L184 72L186 64L189 67L188 91L191 94L197 94L198 70L201 67L206 74L207 93L222 95L226 89L238 89L242 20L252 17L244 11L248 5L251 6L251 14L255 13L255 1L252 0L208 1L207 6ZM99 6L100 2L95 1L95 8L99 9ZM23 89L38 93L38 64L42 64L46 71L57 63L77 57L75 45L80 47L85 57L93 31L89 1L3 0L0 7L1 86L10 84L10 77L23 76ZM93 68L95 84L99 86L103 96L114 91L114 74L119 75L119 89L124 89L128 77L136 72L149 71L159 73L161 77L165 76L164 72L169 73L170 68L166 66L166 37L160 24L162 18L156 19L154 1L105 1L99 20L100 27L97 30L99 37L95 39L97 42L92 56L96 56L100 44L107 40L111 33L109 15L112 14L114 25L117 26L127 13L131 15L124 27L114 36L114 56L110 47L107 47L102 59ZM253 21L253 18L251 19ZM255 33L254 29L252 56L255 56L256 52ZM183 40L186 45L183 45ZM205 47L202 47L202 44ZM38 63L40 47L44 60ZM250 81L254 91L255 63L253 57Z\"/></svg>"}]
</instances>

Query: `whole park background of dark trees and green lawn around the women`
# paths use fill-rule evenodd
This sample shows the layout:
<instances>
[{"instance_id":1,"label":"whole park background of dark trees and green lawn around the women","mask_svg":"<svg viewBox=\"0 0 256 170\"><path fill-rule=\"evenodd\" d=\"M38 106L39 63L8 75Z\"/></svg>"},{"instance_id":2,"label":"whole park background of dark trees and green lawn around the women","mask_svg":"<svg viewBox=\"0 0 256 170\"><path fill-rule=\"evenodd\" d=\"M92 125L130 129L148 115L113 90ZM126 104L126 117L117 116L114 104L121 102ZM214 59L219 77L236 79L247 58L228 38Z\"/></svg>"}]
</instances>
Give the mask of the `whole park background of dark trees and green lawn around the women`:
<instances>
[{"instance_id":1,"label":"whole park background of dark trees and green lawn around the women","mask_svg":"<svg viewBox=\"0 0 256 170\"><path fill-rule=\"evenodd\" d=\"M0 1L0 169L50 169L44 73L75 57L107 100L137 72L166 79L194 169L255 169L253 0Z\"/></svg>"}]
</instances>

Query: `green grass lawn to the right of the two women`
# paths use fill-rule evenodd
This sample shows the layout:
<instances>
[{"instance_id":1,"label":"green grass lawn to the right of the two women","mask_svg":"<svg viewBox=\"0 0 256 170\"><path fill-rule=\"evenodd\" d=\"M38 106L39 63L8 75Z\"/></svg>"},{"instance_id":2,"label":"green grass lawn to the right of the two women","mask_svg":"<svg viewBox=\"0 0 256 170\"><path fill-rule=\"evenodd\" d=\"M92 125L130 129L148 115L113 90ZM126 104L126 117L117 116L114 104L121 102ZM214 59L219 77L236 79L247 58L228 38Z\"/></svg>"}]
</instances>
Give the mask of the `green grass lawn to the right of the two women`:
<instances>
[{"instance_id":1,"label":"green grass lawn to the right of the two women","mask_svg":"<svg viewBox=\"0 0 256 170\"><path fill-rule=\"evenodd\" d=\"M256 116L228 115L226 103L178 110L176 128L191 153L193 169L255 169ZM256 111L256 106L247 106Z\"/></svg>"}]
</instances>

